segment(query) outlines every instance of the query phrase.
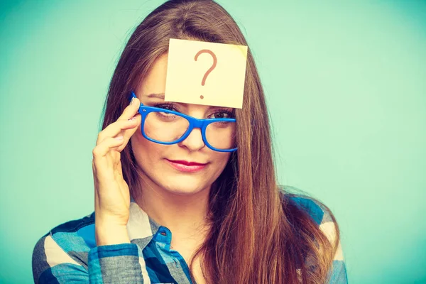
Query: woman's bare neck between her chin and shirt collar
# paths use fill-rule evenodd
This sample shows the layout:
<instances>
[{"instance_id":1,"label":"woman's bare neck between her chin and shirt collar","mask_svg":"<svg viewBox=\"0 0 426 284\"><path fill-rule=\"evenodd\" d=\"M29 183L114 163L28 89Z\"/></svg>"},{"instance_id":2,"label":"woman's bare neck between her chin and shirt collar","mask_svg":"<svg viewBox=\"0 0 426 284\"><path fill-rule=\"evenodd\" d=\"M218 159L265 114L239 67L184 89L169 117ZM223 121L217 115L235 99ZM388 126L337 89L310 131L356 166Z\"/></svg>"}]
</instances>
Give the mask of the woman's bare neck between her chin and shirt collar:
<instances>
[{"instance_id":1,"label":"woman's bare neck between her chin and shirt collar","mask_svg":"<svg viewBox=\"0 0 426 284\"><path fill-rule=\"evenodd\" d=\"M210 187L191 195L170 192L143 182L135 202L151 219L172 231L175 237L190 237L207 229Z\"/></svg>"}]
</instances>

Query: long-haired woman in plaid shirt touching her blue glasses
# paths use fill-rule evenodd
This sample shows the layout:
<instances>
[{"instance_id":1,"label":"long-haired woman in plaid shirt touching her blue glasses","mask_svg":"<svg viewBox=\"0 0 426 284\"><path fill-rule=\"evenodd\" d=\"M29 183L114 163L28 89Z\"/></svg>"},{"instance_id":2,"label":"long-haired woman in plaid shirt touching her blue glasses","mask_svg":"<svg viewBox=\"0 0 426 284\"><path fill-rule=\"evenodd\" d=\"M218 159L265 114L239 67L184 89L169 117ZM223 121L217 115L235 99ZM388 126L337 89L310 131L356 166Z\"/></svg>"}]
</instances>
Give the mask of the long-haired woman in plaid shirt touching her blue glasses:
<instances>
[{"instance_id":1,"label":"long-haired woman in plaid shirt touching her blue glasses","mask_svg":"<svg viewBox=\"0 0 426 284\"><path fill-rule=\"evenodd\" d=\"M250 51L242 109L164 102L170 38L247 45L214 1L168 1L143 20L93 149L94 213L38 241L35 283L346 283L333 214L276 183ZM222 119L228 134L179 140L187 127L170 117Z\"/></svg>"}]
</instances>

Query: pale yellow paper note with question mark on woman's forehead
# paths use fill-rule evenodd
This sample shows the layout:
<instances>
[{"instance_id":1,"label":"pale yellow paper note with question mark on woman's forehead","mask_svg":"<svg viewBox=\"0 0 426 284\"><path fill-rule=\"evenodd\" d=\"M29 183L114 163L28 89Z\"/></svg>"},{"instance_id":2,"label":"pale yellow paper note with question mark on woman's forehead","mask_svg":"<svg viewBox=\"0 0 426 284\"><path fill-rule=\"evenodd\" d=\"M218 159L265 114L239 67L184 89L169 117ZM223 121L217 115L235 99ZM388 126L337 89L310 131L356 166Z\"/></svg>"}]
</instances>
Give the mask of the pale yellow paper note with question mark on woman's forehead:
<instances>
[{"instance_id":1,"label":"pale yellow paper note with question mark on woman's forehead","mask_svg":"<svg viewBox=\"0 0 426 284\"><path fill-rule=\"evenodd\" d=\"M243 106L247 46L170 39L165 101Z\"/></svg>"}]
</instances>

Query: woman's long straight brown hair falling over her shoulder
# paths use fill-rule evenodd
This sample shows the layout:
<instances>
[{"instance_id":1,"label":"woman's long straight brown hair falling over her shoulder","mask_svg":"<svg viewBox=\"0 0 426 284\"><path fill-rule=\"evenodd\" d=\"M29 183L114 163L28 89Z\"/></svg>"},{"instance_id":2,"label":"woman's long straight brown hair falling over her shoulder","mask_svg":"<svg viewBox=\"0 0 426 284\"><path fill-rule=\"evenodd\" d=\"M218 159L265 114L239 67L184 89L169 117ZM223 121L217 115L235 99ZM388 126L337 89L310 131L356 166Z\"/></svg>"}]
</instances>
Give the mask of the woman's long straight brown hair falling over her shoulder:
<instances>
[{"instance_id":1,"label":"woman's long straight brown hair falling over her shoulder","mask_svg":"<svg viewBox=\"0 0 426 284\"><path fill-rule=\"evenodd\" d=\"M222 6L210 0L168 1L140 23L109 86L102 129L116 121L170 38L247 45ZM324 283L337 250L318 225L278 187L261 80L249 50L243 108L236 109L238 151L231 154L209 198L212 229L196 255L207 283ZM131 195L141 188L131 143L121 153ZM192 258L194 259L194 258ZM192 264L192 262L191 262ZM192 267L192 266L190 266Z\"/></svg>"}]
</instances>

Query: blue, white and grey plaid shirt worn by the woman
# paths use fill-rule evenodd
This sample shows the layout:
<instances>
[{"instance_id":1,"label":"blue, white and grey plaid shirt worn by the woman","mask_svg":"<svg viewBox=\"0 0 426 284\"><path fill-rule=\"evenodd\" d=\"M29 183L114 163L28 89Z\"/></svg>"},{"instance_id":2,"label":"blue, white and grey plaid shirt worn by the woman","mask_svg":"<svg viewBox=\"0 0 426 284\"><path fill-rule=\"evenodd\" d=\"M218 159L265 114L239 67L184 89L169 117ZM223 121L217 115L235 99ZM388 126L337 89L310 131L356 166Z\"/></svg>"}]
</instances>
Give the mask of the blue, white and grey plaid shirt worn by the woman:
<instances>
[{"instance_id":1,"label":"blue, white and grey plaid shirt worn by the woman","mask_svg":"<svg viewBox=\"0 0 426 284\"><path fill-rule=\"evenodd\" d=\"M334 236L329 215L307 197L290 197ZM33 250L35 283L178 283L192 284L184 258L170 249L172 234L131 200L127 231L131 244L97 246L94 212L45 234ZM329 283L347 283L342 247L334 256Z\"/></svg>"}]
</instances>

